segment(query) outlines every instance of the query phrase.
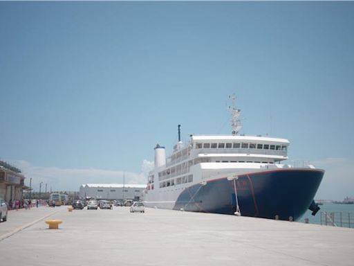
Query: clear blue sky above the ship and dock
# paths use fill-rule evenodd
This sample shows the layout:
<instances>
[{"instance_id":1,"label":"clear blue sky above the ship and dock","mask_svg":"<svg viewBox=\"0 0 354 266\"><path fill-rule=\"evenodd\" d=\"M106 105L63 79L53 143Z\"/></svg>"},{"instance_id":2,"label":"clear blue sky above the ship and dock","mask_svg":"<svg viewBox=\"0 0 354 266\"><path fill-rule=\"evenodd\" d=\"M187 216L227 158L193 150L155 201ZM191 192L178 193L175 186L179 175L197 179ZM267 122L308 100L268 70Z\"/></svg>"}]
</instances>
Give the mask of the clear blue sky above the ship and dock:
<instances>
[{"instance_id":1,"label":"clear blue sky above the ship and dock","mask_svg":"<svg viewBox=\"0 0 354 266\"><path fill-rule=\"evenodd\" d=\"M320 196L354 195L353 14L353 2L0 2L0 157L60 189L78 186L50 169L138 175L178 124L183 139L230 134L235 93L243 133L346 167L344 181L326 169Z\"/></svg>"}]
</instances>

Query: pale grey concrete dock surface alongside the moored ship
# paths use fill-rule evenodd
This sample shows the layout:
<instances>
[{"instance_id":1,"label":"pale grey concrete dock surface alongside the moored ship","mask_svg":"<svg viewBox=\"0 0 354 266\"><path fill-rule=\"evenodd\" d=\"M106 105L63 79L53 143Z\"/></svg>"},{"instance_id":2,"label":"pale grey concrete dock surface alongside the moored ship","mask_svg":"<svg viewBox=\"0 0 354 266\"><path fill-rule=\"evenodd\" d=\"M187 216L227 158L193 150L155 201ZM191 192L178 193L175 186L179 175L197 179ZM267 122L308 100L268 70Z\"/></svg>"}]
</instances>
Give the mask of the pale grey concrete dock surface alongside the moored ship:
<instances>
[{"instance_id":1,"label":"pale grey concrete dock surface alongside the moored ship","mask_svg":"<svg viewBox=\"0 0 354 266\"><path fill-rule=\"evenodd\" d=\"M59 219L58 230L44 222ZM146 209L10 211L1 266L354 265L354 229Z\"/></svg>"}]
</instances>

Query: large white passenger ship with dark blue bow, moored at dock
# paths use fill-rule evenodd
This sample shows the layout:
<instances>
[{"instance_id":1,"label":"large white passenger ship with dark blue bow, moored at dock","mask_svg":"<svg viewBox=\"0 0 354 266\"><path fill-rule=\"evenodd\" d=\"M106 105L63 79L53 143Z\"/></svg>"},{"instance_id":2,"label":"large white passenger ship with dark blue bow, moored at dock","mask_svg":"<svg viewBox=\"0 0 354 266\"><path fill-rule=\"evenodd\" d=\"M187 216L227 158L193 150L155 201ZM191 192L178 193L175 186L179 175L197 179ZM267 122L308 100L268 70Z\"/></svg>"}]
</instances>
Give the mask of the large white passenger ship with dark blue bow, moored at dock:
<instances>
[{"instance_id":1,"label":"large white passenger ship with dark blue bow, moored at dock","mask_svg":"<svg viewBox=\"0 0 354 266\"><path fill-rule=\"evenodd\" d=\"M284 164L288 139L239 134L241 110L230 96L231 135L190 135L169 157L156 145L144 203L148 207L297 220L319 206L313 198L324 170Z\"/></svg>"}]
</instances>

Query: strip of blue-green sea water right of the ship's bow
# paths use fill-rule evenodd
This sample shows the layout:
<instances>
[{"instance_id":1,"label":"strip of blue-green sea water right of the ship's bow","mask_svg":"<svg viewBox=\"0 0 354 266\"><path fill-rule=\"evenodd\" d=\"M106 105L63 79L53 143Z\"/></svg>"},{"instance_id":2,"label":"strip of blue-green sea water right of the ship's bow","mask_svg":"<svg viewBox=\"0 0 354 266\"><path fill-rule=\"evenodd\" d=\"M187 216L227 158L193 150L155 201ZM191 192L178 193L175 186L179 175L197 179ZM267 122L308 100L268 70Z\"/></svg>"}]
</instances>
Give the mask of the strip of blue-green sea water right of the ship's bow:
<instances>
[{"instance_id":1,"label":"strip of blue-green sea water right of the ship's bow","mask_svg":"<svg viewBox=\"0 0 354 266\"><path fill-rule=\"evenodd\" d=\"M335 204L328 202L319 205L319 208L321 209L315 216L311 214L312 211L308 210L297 222L304 222L304 220L308 218L310 224L321 224L321 211L327 213L335 212L335 215L339 215L339 212L342 211L343 217L345 215L346 222L348 221L348 213L350 213L350 218L353 219L351 220L351 227L354 227L354 204ZM337 220L337 218L335 220ZM324 224L324 215L322 216L322 224ZM345 227L348 227L348 224L346 224Z\"/></svg>"}]
</instances>

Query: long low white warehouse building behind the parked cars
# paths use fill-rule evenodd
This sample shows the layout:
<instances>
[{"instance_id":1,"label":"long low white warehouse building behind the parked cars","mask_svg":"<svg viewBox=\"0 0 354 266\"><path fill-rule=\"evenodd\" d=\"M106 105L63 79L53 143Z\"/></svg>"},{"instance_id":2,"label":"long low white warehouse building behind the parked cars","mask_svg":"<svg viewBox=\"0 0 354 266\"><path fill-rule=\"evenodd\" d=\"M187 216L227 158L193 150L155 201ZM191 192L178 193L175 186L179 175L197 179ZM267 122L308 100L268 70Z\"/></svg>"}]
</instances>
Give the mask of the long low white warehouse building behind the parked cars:
<instances>
[{"instance_id":1,"label":"long low white warehouse building behind the parked cars","mask_svg":"<svg viewBox=\"0 0 354 266\"><path fill-rule=\"evenodd\" d=\"M136 184L82 184L80 197L93 197L94 199L142 199L146 185Z\"/></svg>"}]
</instances>

